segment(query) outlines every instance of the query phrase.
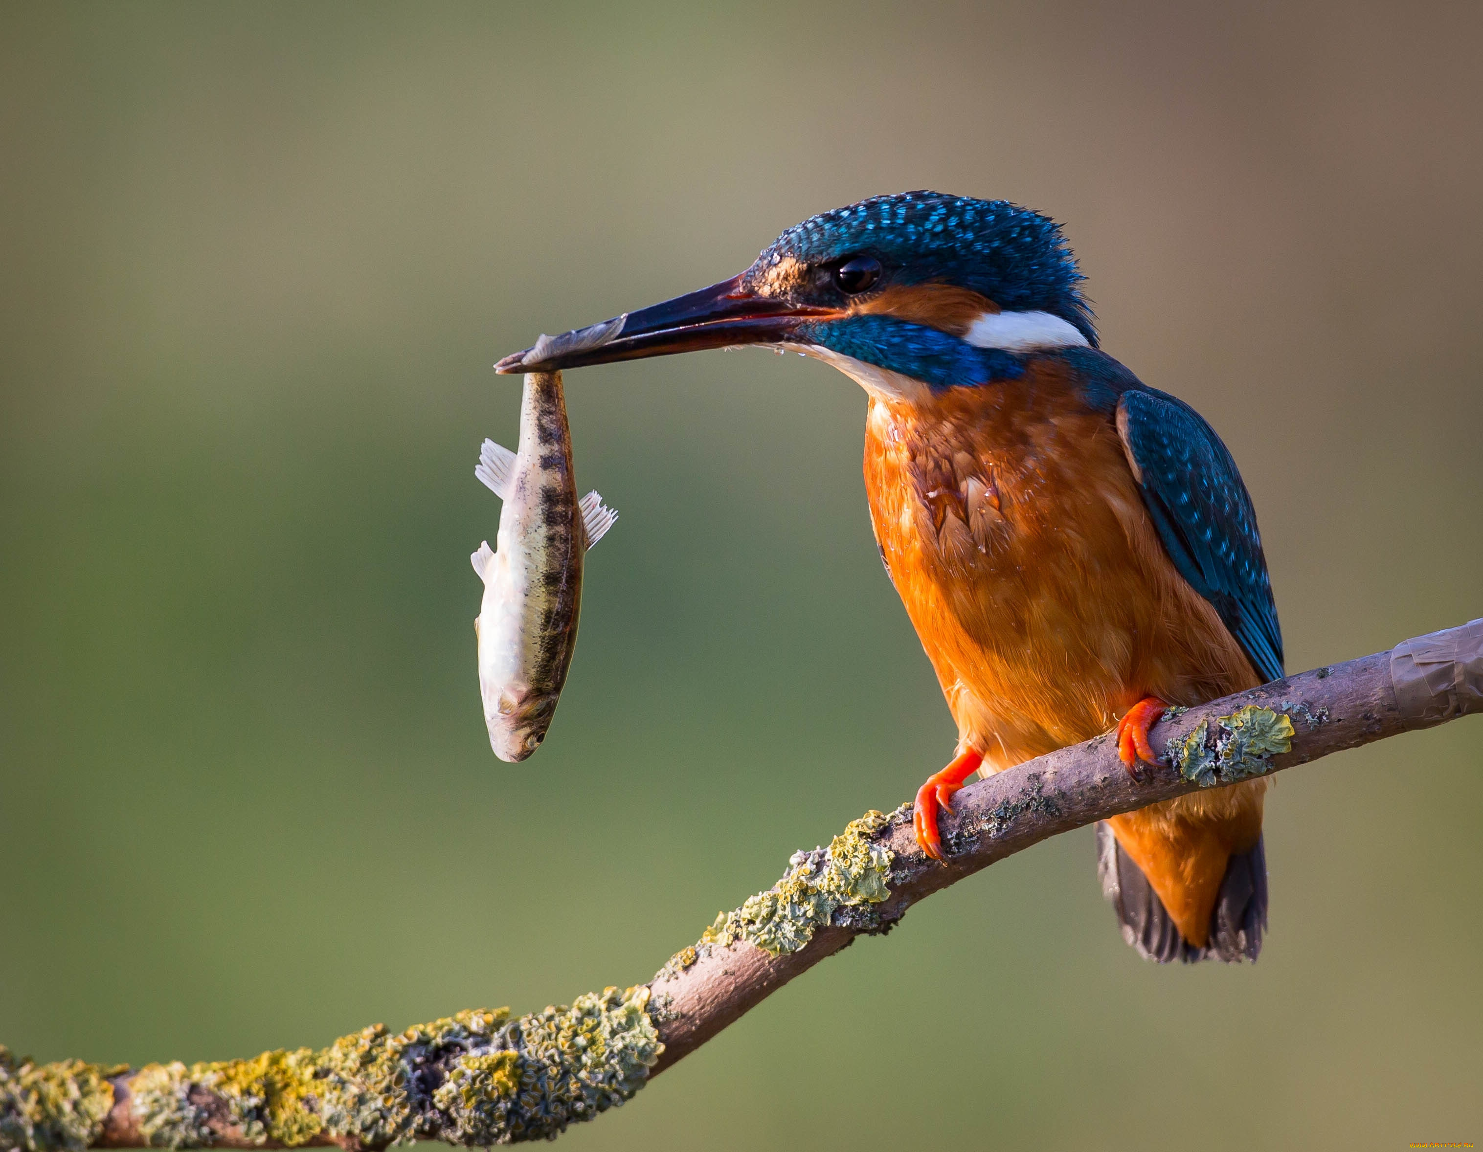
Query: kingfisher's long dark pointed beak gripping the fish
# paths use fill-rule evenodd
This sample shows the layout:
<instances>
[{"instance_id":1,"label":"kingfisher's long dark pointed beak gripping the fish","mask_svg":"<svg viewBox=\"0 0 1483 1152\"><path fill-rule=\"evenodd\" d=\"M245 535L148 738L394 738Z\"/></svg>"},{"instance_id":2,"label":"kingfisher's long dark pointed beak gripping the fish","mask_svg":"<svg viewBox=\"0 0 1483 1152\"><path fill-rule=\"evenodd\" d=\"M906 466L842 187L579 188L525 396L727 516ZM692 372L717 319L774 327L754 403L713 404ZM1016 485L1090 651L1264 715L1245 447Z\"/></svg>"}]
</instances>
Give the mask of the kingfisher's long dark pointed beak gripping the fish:
<instances>
[{"instance_id":1,"label":"kingfisher's long dark pointed beak gripping the fish","mask_svg":"<svg viewBox=\"0 0 1483 1152\"><path fill-rule=\"evenodd\" d=\"M779 344L808 320L841 316L833 308L759 297L742 276L675 297L641 311L626 311L590 328L541 337L534 347L506 356L497 372L553 372L558 368L638 360L676 351Z\"/></svg>"}]
</instances>

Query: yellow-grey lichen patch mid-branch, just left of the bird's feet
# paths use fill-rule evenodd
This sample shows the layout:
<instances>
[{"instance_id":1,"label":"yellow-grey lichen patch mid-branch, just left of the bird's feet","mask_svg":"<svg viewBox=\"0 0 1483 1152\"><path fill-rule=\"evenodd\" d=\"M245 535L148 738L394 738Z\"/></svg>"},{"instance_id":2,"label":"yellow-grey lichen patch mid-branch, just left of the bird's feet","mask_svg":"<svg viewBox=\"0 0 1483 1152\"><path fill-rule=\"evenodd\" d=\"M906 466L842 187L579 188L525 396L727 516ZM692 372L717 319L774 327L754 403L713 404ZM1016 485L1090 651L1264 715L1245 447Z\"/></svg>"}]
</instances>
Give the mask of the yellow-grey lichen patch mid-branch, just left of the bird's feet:
<instances>
[{"instance_id":1,"label":"yellow-grey lichen patch mid-branch, just left of the bird's feet","mask_svg":"<svg viewBox=\"0 0 1483 1152\"><path fill-rule=\"evenodd\" d=\"M819 928L835 922L836 913L881 903L891 894L887 879L893 853L871 835L888 821L882 812L869 811L851 820L828 848L793 853L783 878L765 893L747 897L742 907L719 913L701 933L701 946L725 947L747 940L780 956L813 940ZM844 919L863 927L871 916L844 915Z\"/></svg>"}]
</instances>

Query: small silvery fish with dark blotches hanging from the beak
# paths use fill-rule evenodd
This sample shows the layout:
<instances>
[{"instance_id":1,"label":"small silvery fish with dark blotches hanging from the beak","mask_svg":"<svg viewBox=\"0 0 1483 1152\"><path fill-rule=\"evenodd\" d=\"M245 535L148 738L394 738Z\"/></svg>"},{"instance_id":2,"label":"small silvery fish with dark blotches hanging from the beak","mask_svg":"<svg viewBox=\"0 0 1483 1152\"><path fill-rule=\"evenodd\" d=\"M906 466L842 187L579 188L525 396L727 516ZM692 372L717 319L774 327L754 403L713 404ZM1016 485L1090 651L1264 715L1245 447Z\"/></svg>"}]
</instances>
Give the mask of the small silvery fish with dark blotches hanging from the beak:
<instances>
[{"instance_id":1,"label":"small silvery fish with dark blotches hanging from the beak","mask_svg":"<svg viewBox=\"0 0 1483 1152\"><path fill-rule=\"evenodd\" d=\"M497 549L470 557L483 580L475 620L489 746L523 761L546 738L577 642L583 560L617 513L577 500L561 372L531 372L518 452L485 440L475 474L504 501Z\"/></svg>"}]
</instances>

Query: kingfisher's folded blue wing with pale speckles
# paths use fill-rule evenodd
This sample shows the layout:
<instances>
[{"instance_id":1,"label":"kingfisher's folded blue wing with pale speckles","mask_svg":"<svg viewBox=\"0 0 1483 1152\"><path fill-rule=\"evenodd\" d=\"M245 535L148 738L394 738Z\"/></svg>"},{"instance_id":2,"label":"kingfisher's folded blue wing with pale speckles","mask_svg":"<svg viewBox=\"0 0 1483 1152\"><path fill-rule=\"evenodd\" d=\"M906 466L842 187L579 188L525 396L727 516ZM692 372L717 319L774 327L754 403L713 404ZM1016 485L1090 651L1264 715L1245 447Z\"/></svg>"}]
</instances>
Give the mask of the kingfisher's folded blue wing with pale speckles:
<instances>
[{"instance_id":1,"label":"kingfisher's folded blue wing with pale speckles","mask_svg":"<svg viewBox=\"0 0 1483 1152\"><path fill-rule=\"evenodd\" d=\"M1118 433L1175 568L1210 600L1262 679L1280 679L1283 630L1256 510L1226 446L1189 405L1146 385L1123 393Z\"/></svg>"}]
</instances>

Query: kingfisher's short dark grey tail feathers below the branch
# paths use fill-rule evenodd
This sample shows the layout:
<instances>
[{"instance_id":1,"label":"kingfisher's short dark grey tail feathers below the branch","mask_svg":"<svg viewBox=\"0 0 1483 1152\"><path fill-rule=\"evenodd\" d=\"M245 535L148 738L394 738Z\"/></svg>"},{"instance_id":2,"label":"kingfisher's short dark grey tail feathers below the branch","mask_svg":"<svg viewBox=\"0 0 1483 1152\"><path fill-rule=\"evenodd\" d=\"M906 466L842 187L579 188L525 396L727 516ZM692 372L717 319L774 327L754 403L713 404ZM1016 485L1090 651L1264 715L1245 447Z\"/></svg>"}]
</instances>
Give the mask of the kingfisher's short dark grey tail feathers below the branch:
<instances>
[{"instance_id":1,"label":"kingfisher's short dark grey tail feathers below the branch","mask_svg":"<svg viewBox=\"0 0 1483 1152\"><path fill-rule=\"evenodd\" d=\"M1097 875L1102 894L1117 909L1123 939L1143 959L1170 964L1194 964L1219 959L1235 964L1255 961L1262 950L1266 931L1266 850L1256 845L1232 855L1225 866L1221 894L1210 913L1210 939L1204 947L1194 947L1179 934L1164 901L1149 885L1142 870L1118 845L1108 823L1097 821Z\"/></svg>"}]
</instances>

